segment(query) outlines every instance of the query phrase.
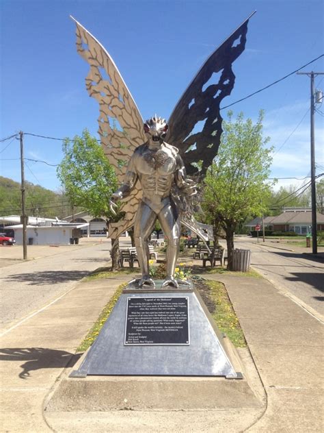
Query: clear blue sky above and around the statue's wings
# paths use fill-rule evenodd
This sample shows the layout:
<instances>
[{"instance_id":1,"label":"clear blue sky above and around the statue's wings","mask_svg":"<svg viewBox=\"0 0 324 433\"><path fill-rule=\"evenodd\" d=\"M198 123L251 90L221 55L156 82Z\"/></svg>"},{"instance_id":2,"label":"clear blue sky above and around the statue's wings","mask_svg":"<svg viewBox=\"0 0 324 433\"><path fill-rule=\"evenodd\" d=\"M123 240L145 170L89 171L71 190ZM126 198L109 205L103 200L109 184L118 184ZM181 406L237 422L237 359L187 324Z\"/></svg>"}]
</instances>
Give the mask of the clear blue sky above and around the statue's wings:
<instances>
[{"instance_id":1,"label":"clear blue sky above and around the statue's wings","mask_svg":"<svg viewBox=\"0 0 324 433\"><path fill-rule=\"evenodd\" d=\"M223 106L319 57L324 52L323 4L322 0L1 0L0 138L20 130L72 137L85 127L96 134L98 107L85 90L87 64L77 54L70 14L109 51L147 119L155 112L165 118L171 114L204 60L254 10L246 49L233 65L234 89ZM305 71L323 72L323 59ZM324 88L323 77L316 77L316 87ZM234 114L243 111L254 120L261 108L265 110L265 136L275 147L271 177L310 175L309 106L310 79L293 75L231 108ZM323 106L317 108L324 112ZM316 173L322 173L321 113L316 113L315 125ZM25 136L26 158L57 164L62 160L61 147L59 141ZM15 139L0 143L1 175L17 182L19 149ZM25 177L59 189L55 167L27 161ZM280 180L278 186L302 182Z\"/></svg>"}]
</instances>

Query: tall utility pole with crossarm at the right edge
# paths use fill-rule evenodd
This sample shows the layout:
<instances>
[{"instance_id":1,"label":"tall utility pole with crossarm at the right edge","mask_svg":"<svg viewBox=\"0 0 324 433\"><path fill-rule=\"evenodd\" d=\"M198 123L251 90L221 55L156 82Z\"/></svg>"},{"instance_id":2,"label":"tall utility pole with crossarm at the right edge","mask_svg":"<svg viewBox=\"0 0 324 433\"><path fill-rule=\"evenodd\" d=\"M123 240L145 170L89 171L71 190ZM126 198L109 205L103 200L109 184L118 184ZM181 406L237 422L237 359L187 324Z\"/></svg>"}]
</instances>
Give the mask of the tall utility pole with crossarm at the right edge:
<instances>
[{"instance_id":1,"label":"tall utility pole with crossarm at the right edge","mask_svg":"<svg viewBox=\"0 0 324 433\"><path fill-rule=\"evenodd\" d=\"M310 181L312 197L312 253L317 254L317 221L316 221L316 184L315 184L315 83L314 77L324 72L297 72L298 75L310 77Z\"/></svg>"}]
</instances>

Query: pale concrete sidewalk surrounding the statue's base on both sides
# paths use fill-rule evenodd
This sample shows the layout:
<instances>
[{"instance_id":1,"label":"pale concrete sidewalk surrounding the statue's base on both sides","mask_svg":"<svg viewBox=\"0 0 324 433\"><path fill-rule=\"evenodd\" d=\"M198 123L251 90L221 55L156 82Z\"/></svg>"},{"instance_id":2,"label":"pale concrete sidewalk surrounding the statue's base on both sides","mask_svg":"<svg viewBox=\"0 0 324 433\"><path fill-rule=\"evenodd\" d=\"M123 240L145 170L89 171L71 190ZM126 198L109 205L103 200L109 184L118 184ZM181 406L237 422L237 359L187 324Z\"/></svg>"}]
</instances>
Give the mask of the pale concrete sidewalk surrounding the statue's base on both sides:
<instances>
[{"instance_id":1,"label":"pale concrete sidewalk surrounding the statue's base on both sides","mask_svg":"<svg viewBox=\"0 0 324 433\"><path fill-rule=\"evenodd\" d=\"M75 349L87 330L130 278L81 282L3 336L1 432L323 431L321 323L267 280L236 275L208 278L226 284L265 386L262 410L44 412L55 382L77 361Z\"/></svg>"}]
</instances>

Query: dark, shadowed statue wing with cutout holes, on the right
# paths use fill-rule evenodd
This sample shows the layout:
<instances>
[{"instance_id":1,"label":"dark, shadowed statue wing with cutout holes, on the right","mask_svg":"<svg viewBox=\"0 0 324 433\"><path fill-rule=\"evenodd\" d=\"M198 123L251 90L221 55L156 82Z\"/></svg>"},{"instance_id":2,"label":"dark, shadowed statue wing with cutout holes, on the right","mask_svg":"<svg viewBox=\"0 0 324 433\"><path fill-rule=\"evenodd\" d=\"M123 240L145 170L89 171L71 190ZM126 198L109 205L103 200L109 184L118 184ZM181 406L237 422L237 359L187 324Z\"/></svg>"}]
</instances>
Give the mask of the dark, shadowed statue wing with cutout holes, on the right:
<instances>
[{"instance_id":1,"label":"dark, shadowed statue wing with cutout holes, on the right","mask_svg":"<svg viewBox=\"0 0 324 433\"><path fill-rule=\"evenodd\" d=\"M234 87L232 63L245 49L249 18L210 55L170 116L166 141L179 149L188 175L204 177L217 155L223 132L219 104ZM198 123L203 127L195 132Z\"/></svg>"}]
</instances>

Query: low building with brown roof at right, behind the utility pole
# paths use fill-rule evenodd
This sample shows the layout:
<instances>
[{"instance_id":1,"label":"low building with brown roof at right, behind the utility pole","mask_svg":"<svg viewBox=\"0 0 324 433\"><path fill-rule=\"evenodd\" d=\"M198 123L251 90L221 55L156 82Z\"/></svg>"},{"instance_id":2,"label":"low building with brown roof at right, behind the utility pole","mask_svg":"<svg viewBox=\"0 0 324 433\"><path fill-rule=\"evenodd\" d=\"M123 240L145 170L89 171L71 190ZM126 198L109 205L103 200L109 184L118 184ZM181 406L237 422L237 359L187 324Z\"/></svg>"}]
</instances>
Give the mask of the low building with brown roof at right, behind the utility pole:
<instances>
[{"instance_id":1,"label":"low building with brown roof at right, behind the utility pole","mask_svg":"<svg viewBox=\"0 0 324 433\"><path fill-rule=\"evenodd\" d=\"M273 232L295 232L306 235L312 232L312 210L310 208L285 208L282 214L266 217L265 228ZM317 231L324 230L324 215L316 213ZM262 219L254 219L245 224L250 230L255 230L257 224L262 225Z\"/></svg>"}]
</instances>

